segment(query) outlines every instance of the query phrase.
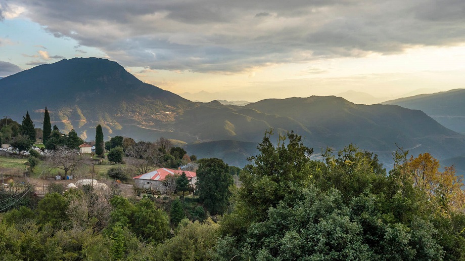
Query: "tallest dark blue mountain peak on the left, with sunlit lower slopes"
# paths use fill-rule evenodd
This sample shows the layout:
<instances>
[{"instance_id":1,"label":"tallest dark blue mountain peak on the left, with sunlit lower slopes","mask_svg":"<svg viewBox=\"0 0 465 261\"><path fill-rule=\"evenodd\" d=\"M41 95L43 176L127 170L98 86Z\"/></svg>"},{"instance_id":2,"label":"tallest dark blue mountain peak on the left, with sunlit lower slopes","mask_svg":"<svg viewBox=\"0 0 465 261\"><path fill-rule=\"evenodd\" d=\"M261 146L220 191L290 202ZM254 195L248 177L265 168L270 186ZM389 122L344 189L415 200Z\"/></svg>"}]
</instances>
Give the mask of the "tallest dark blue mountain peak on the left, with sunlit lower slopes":
<instances>
[{"instance_id":1,"label":"tallest dark blue mountain peak on the left, with sunlit lower slopes","mask_svg":"<svg viewBox=\"0 0 465 261\"><path fill-rule=\"evenodd\" d=\"M5 94L0 97L5 115L19 120L29 111L40 126L46 106L52 124L65 132L74 128L88 140L94 139L97 124L107 136L136 131L148 139L147 129L166 130L174 115L194 104L142 82L116 62L98 58L39 65L5 77L0 90Z\"/></svg>"}]
</instances>

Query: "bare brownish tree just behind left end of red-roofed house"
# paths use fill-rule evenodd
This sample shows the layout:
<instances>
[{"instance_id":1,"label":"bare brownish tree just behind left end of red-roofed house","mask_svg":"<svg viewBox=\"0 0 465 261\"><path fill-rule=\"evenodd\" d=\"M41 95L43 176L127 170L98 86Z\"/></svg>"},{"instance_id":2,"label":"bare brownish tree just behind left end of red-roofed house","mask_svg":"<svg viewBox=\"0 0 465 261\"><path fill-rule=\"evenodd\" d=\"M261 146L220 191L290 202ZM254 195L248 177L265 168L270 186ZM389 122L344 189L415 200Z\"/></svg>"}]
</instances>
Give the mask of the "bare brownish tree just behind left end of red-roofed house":
<instances>
[{"instance_id":1,"label":"bare brownish tree just behind left end of red-roofed house","mask_svg":"<svg viewBox=\"0 0 465 261\"><path fill-rule=\"evenodd\" d=\"M160 161L161 153L157 146L150 142L138 142L126 149L126 162L137 169L141 175L155 168Z\"/></svg>"}]
</instances>

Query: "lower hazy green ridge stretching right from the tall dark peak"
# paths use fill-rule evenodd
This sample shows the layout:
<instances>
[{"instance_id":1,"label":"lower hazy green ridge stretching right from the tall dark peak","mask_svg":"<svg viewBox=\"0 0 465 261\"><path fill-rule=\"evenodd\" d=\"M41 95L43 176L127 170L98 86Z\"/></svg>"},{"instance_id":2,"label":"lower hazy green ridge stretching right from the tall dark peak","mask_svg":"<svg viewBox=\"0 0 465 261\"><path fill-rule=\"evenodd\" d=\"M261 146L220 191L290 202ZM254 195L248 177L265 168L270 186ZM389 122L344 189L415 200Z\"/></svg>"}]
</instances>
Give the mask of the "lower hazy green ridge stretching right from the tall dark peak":
<instances>
[{"instance_id":1,"label":"lower hazy green ridge stretching right from the tall dark peak","mask_svg":"<svg viewBox=\"0 0 465 261\"><path fill-rule=\"evenodd\" d=\"M217 101L202 103L179 115L174 128L199 141L237 140L258 143L264 130L294 130L304 144L319 152L353 143L392 163L396 144L412 155L430 152L437 158L465 155L464 136L420 110L396 105L357 105L329 96L267 99L243 107ZM189 142L189 141L188 141Z\"/></svg>"}]
</instances>

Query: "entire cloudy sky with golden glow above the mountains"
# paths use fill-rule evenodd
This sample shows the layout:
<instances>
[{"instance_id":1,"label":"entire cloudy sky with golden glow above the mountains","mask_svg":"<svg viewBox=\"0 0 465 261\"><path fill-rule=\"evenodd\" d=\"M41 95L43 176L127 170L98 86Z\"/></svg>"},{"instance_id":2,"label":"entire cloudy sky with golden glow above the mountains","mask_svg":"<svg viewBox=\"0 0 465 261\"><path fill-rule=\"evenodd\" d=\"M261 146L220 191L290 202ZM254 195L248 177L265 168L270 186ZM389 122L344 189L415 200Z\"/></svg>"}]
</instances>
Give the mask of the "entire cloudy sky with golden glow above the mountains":
<instances>
[{"instance_id":1,"label":"entire cloudy sky with golden glow above the mountains","mask_svg":"<svg viewBox=\"0 0 465 261\"><path fill-rule=\"evenodd\" d=\"M0 0L0 6L0 77L99 57L201 101L338 95L375 103L465 88L463 0Z\"/></svg>"}]
</instances>

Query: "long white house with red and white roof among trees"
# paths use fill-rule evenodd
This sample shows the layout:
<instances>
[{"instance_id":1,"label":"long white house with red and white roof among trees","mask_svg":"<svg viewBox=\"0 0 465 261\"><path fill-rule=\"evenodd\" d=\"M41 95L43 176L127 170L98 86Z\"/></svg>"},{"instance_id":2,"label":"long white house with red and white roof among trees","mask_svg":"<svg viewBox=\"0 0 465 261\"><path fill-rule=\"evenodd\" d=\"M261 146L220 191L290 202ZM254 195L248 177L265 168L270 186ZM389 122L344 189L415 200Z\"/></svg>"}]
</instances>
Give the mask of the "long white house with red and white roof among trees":
<instances>
[{"instance_id":1,"label":"long white house with red and white roof among trees","mask_svg":"<svg viewBox=\"0 0 465 261\"><path fill-rule=\"evenodd\" d=\"M150 189L164 193L165 186L163 182L166 180L166 177L168 175L180 176L182 173L185 173L185 176L189 179L190 185L194 187L197 181L197 173L181 169L170 169L163 167L147 172L143 175L135 176L132 179L134 180L135 186L137 188Z\"/></svg>"}]
</instances>

